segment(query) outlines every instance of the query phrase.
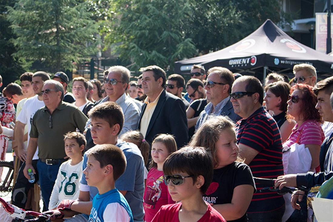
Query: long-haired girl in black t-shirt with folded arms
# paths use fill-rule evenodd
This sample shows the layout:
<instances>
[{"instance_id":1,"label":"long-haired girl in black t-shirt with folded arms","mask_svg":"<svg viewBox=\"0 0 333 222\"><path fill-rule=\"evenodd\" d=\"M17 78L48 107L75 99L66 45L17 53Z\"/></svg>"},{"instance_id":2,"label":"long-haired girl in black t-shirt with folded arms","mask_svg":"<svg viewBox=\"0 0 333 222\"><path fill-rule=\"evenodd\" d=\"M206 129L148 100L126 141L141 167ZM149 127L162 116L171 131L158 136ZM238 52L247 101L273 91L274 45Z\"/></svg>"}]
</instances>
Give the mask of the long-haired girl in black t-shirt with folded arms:
<instances>
[{"instance_id":1,"label":"long-haired girl in black t-shirt with folded arms","mask_svg":"<svg viewBox=\"0 0 333 222\"><path fill-rule=\"evenodd\" d=\"M192 146L212 154L213 181L203 195L227 221L246 222L246 211L256 191L250 167L238 158L234 125L224 116L205 121L194 134Z\"/></svg>"}]
</instances>

